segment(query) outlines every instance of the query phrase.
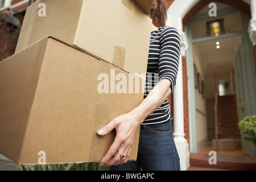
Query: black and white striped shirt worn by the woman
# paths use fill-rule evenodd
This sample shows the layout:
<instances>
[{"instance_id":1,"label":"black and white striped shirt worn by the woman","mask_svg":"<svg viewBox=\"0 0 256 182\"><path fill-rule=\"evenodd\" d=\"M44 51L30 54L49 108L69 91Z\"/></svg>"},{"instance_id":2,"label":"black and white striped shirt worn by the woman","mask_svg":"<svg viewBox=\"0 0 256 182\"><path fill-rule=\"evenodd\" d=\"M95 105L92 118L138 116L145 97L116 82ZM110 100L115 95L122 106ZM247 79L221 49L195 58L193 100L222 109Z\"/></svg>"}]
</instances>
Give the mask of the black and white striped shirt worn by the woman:
<instances>
[{"instance_id":1,"label":"black and white striped shirt worn by the woman","mask_svg":"<svg viewBox=\"0 0 256 182\"><path fill-rule=\"evenodd\" d=\"M147 63L147 77L144 98L160 80L171 82L174 91L180 60L180 36L175 28L160 27L151 32L150 50ZM168 99L149 115L142 125L170 122L170 105Z\"/></svg>"}]
</instances>

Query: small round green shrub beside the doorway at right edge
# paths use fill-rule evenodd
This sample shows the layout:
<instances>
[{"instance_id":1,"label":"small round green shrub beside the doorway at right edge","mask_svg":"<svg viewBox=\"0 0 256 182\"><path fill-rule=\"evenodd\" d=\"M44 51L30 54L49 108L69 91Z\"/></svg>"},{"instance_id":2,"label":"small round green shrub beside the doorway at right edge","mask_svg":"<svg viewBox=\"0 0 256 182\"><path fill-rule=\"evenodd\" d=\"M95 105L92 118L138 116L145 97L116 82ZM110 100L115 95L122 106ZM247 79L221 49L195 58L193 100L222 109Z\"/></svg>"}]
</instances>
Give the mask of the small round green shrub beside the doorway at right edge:
<instances>
[{"instance_id":1,"label":"small round green shrub beside the doorway at right edge","mask_svg":"<svg viewBox=\"0 0 256 182\"><path fill-rule=\"evenodd\" d=\"M243 140L256 144L256 115L247 115L238 123L241 134L245 134Z\"/></svg>"}]
</instances>

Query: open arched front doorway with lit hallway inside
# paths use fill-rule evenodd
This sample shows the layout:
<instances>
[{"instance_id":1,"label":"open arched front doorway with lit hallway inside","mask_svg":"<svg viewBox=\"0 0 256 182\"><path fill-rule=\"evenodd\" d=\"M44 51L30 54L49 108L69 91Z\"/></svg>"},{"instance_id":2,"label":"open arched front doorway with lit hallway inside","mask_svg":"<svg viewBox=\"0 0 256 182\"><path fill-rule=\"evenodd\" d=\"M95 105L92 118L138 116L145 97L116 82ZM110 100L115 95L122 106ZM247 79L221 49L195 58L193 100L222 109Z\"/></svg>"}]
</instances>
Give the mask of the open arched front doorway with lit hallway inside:
<instances>
[{"instance_id":1,"label":"open arched front doorway with lit hallway inside","mask_svg":"<svg viewBox=\"0 0 256 182\"><path fill-rule=\"evenodd\" d=\"M221 7L221 3L218 7ZM189 119L189 126L192 125L191 148L194 152L200 151L214 138L240 138L237 123L241 118L240 110L245 110L247 107L245 101L240 103L240 96L244 96L245 92L250 93L251 96L252 91L255 93L256 90L248 87L240 92L242 84L246 84L241 76L253 80L249 73L246 73L250 67L253 68L251 57L245 57L252 55L247 33L248 17L228 5L224 5L223 10L218 11L220 16L216 18L204 14L206 10L207 7L194 16L186 27L189 41L187 69L189 78L193 80L189 81L189 88L190 90L195 88L195 100L189 100L195 105L195 108L189 107L189 112L195 112L193 114L195 119ZM214 20L218 23L214 24ZM209 32L207 28L210 27L207 26L208 22L213 23L215 28L214 34L210 36L207 34ZM218 24L220 31L216 33ZM244 46L246 51L241 50ZM246 64L243 63L244 61ZM244 65L243 70L239 64ZM230 101L222 101L226 96L230 97L228 98ZM252 101L255 101L254 98ZM228 106L221 106L226 103ZM224 107L233 108L236 112L229 113ZM233 116L230 117L232 123L222 122L227 120L227 115ZM233 129L228 131L231 125Z\"/></svg>"}]
</instances>

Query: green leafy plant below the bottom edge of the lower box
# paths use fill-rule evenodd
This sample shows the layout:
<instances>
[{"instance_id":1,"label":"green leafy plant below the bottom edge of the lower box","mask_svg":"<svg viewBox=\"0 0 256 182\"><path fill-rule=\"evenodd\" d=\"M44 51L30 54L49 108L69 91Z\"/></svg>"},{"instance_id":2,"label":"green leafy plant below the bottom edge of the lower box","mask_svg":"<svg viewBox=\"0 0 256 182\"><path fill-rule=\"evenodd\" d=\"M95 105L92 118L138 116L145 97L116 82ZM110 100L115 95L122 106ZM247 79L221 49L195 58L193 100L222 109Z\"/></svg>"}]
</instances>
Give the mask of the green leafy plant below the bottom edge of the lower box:
<instances>
[{"instance_id":1,"label":"green leafy plant below the bottom edge of the lower box","mask_svg":"<svg viewBox=\"0 0 256 182\"><path fill-rule=\"evenodd\" d=\"M107 171L100 163L18 165L19 171Z\"/></svg>"}]
</instances>

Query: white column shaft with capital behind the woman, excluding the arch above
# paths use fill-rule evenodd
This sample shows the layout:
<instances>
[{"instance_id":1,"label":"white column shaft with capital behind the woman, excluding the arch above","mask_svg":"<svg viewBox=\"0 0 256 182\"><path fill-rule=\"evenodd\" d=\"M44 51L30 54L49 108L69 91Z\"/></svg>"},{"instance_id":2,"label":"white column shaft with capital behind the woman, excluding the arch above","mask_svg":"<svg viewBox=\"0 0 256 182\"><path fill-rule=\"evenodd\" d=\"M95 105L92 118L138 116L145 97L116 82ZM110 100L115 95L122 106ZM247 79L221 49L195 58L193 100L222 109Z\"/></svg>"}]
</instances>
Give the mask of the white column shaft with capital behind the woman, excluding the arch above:
<instances>
[{"instance_id":1,"label":"white column shaft with capital behind the woman, excluding the arch above","mask_svg":"<svg viewBox=\"0 0 256 182\"><path fill-rule=\"evenodd\" d=\"M187 36L184 32L180 33L181 38L181 56L179 72L177 75L176 86L174 90L174 142L177 152L180 156L180 169L185 171L189 167L189 145L184 134L184 104L183 104L183 68L182 56L185 56L188 48Z\"/></svg>"}]
</instances>

